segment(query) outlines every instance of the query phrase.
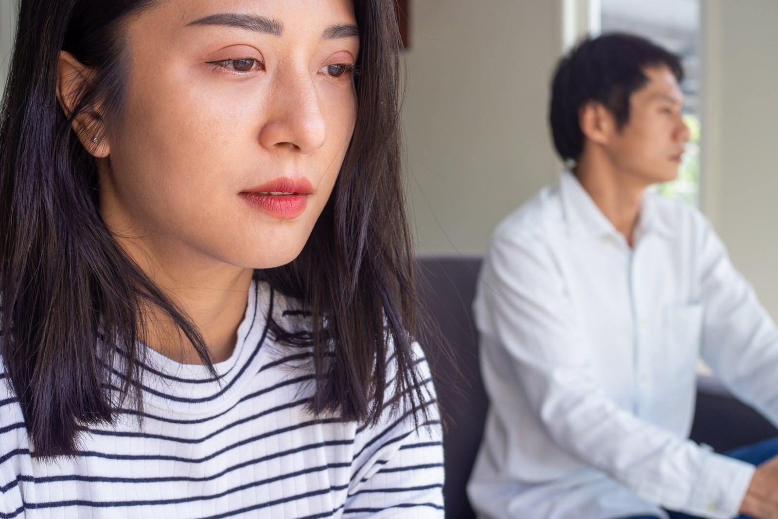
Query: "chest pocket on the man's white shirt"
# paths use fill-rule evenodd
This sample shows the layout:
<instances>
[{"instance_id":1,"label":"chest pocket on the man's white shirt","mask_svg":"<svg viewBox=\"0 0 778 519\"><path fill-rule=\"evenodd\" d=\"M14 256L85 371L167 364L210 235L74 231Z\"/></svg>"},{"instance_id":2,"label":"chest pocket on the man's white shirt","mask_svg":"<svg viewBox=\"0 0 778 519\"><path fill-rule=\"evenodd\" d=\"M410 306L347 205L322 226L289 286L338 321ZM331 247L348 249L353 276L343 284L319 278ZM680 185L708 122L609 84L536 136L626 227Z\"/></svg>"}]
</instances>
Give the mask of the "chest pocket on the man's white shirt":
<instances>
[{"instance_id":1,"label":"chest pocket on the man's white shirt","mask_svg":"<svg viewBox=\"0 0 778 519\"><path fill-rule=\"evenodd\" d=\"M689 384L696 376L697 357L703 335L704 307L700 303L668 305L664 308L661 347L656 359L661 379Z\"/></svg>"}]
</instances>

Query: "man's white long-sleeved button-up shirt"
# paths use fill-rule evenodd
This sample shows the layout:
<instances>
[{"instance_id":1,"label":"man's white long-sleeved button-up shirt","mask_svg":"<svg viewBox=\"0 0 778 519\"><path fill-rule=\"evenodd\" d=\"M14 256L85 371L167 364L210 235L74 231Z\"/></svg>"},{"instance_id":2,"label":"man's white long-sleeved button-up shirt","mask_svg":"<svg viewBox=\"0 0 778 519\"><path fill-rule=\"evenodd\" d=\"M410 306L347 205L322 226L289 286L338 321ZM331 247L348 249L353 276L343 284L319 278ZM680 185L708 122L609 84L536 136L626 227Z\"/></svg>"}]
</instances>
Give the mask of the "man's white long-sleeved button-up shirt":
<instances>
[{"instance_id":1,"label":"man's white long-sleeved button-up shirt","mask_svg":"<svg viewBox=\"0 0 778 519\"><path fill-rule=\"evenodd\" d=\"M696 361L778 423L778 331L698 211L646 193L630 248L563 172L481 280L481 517L737 514L754 468L689 441Z\"/></svg>"}]
</instances>

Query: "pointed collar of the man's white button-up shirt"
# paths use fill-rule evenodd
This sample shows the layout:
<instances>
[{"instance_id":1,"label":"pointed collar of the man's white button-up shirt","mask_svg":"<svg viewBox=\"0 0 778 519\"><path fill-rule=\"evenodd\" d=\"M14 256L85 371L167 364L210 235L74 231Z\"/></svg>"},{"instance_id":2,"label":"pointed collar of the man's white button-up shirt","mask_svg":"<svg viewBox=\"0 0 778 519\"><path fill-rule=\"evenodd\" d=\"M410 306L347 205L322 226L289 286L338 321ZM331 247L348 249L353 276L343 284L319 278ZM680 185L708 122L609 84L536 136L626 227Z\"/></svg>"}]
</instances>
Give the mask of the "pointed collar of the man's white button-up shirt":
<instances>
[{"instance_id":1,"label":"pointed collar of the man's white button-up shirt","mask_svg":"<svg viewBox=\"0 0 778 519\"><path fill-rule=\"evenodd\" d=\"M567 230L570 235L602 237L612 235L621 236L605 214L602 214L597 204L591 199L589 193L580 185L572 172L563 171L559 180L559 191L562 197L562 207L565 212ZM640 217L638 220L636 235L645 236L656 232L660 235L670 236L673 228L667 221L667 215L662 214L661 207L657 207L659 195L645 193L643 195ZM664 217L664 218L663 218Z\"/></svg>"}]
</instances>

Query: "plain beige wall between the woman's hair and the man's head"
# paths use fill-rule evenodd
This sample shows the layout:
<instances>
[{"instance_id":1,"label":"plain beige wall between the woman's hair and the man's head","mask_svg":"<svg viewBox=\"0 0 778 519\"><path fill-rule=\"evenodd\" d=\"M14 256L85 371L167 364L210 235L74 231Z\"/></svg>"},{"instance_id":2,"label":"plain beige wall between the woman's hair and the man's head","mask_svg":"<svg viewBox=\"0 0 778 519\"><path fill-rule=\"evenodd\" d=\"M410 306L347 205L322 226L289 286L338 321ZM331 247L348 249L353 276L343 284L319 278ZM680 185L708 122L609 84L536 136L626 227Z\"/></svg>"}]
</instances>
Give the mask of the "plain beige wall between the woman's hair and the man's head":
<instances>
[{"instance_id":1,"label":"plain beige wall between the woman's hair and the man's head","mask_svg":"<svg viewBox=\"0 0 778 519\"><path fill-rule=\"evenodd\" d=\"M403 112L420 253L481 253L559 175L546 124L562 2L412 0Z\"/></svg>"}]
</instances>

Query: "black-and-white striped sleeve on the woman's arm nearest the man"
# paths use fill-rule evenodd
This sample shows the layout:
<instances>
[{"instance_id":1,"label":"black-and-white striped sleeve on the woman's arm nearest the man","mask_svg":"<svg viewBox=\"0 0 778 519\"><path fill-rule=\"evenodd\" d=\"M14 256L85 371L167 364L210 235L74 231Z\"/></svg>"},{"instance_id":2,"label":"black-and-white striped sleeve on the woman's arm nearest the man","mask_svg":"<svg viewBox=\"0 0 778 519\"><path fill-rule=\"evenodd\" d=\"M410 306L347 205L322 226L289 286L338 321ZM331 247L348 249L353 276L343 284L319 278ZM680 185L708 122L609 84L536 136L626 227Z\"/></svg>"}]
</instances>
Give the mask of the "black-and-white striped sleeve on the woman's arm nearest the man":
<instances>
[{"instance_id":1,"label":"black-and-white striped sleeve on the woman's arm nearest the man","mask_svg":"<svg viewBox=\"0 0 778 519\"><path fill-rule=\"evenodd\" d=\"M361 431L343 517L443 517L440 416L429 367L416 353L426 416L387 406L384 420Z\"/></svg>"}]
</instances>

